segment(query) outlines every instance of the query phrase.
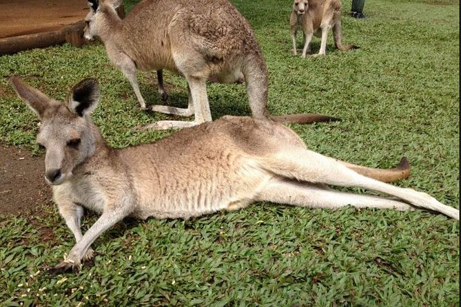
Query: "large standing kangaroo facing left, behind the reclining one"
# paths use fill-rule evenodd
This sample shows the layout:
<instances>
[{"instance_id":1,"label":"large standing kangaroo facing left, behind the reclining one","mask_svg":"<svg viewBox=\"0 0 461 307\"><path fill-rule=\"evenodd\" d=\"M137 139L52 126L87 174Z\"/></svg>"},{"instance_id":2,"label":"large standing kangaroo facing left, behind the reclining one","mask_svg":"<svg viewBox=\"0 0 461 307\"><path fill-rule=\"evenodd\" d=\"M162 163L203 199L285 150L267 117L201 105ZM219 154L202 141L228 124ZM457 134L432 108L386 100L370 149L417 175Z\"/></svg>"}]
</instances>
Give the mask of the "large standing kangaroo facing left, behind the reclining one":
<instances>
[{"instance_id":1,"label":"large standing kangaroo facing left, behind the reclining one","mask_svg":"<svg viewBox=\"0 0 461 307\"><path fill-rule=\"evenodd\" d=\"M256 118L290 123L337 120L319 114L271 116L267 112L267 67L248 21L227 0L143 0L125 19L116 8L121 0L88 0L85 39L103 41L110 61L130 81L141 109L192 116L194 120L161 120L144 129L192 127L212 120L207 80L245 80L250 109ZM147 108L136 70L167 69L185 76L187 108Z\"/></svg>"}]
</instances>

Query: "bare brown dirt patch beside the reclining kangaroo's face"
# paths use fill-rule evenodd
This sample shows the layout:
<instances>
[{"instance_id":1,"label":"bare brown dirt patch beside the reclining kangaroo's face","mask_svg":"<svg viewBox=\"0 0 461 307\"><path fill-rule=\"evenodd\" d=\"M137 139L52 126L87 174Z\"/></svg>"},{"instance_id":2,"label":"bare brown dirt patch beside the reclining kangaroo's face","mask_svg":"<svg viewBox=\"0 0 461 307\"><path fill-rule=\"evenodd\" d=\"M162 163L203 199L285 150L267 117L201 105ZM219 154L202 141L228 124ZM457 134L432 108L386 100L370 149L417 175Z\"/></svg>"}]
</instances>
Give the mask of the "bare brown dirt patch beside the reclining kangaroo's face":
<instances>
[{"instance_id":1,"label":"bare brown dirt patch beside the reclining kangaroo's face","mask_svg":"<svg viewBox=\"0 0 461 307\"><path fill-rule=\"evenodd\" d=\"M0 215L31 218L53 205L44 170L43 157L0 144Z\"/></svg>"}]
</instances>

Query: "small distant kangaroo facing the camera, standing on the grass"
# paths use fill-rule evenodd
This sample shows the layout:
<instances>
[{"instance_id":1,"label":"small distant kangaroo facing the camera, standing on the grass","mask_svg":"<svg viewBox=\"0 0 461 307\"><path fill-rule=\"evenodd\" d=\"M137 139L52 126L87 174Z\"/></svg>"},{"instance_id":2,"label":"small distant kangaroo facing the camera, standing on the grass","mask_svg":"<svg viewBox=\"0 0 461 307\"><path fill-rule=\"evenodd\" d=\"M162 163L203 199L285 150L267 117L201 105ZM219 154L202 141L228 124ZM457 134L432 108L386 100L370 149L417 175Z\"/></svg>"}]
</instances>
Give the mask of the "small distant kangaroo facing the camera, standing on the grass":
<instances>
[{"instance_id":1,"label":"small distant kangaroo facing the camera, standing on the grass","mask_svg":"<svg viewBox=\"0 0 461 307\"><path fill-rule=\"evenodd\" d=\"M312 35L322 37L317 55L325 55L328 31L331 28L333 28L335 46L339 50L357 49L355 45L341 43L341 8L341 0L294 0L289 18L293 54L296 54L296 32L299 29L303 31L303 58L310 51L309 43Z\"/></svg>"}]
</instances>

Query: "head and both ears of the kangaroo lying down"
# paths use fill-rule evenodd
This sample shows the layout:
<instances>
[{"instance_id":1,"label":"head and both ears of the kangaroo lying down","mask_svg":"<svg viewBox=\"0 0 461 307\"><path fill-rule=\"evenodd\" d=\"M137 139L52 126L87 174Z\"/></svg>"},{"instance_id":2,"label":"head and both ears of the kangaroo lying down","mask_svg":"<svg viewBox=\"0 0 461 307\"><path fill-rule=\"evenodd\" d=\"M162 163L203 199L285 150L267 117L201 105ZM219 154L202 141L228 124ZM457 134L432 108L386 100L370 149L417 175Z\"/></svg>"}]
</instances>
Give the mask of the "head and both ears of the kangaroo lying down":
<instances>
[{"instance_id":1,"label":"head and both ears of the kangaroo lying down","mask_svg":"<svg viewBox=\"0 0 461 307\"><path fill-rule=\"evenodd\" d=\"M92 156L101 139L90 113L99 100L96 79L87 78L72 89L67 104L48 98L19 77L10 81L18 96L37 113L41 127L37 142L45 148L45 178L61 184L72 177L74 168Z\"/></svg>"}]
</instances>

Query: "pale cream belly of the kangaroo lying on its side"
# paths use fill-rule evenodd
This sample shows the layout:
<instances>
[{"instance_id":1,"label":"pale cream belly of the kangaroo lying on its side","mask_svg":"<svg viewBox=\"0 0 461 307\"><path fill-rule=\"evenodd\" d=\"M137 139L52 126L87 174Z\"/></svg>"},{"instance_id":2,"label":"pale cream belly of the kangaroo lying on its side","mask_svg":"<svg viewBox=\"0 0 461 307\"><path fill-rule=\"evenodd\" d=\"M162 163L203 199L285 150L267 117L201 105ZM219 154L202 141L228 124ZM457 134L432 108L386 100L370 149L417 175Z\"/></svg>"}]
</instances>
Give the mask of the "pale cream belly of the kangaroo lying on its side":
<instances>
[{"instance_id":1,"label":"pale cream belly of the kangaroo lying on its side","mask_svg":"<svg viewBox=\"0 0 461 307\"><path fill-rule=\"evenodd\" d=\"M138 218L192 218L223 209L238 209L251 203L271 177L257 165L242 165L233 171L197 167L184 180L162 185L157 193L142 193L133 215ZM181 178L169 174L170 178ZM243 180L245 178L245 180ZM147 188L147 187L146 187ZM146 191L146 190L144 190Z\"/></svg>"}]
</instances>

